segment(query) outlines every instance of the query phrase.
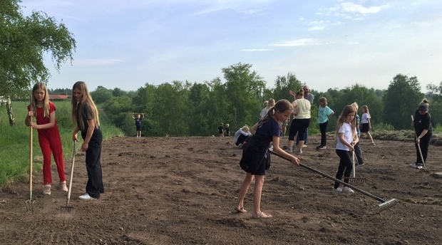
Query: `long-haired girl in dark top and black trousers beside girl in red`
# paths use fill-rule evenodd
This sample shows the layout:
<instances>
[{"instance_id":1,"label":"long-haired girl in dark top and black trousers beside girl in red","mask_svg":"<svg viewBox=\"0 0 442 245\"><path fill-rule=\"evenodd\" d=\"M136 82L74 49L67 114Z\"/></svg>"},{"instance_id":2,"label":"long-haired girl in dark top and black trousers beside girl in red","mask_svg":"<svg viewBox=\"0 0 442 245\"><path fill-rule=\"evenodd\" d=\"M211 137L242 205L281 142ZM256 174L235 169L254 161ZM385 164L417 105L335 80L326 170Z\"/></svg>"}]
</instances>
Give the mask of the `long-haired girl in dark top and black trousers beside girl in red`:
<instances>
[{"instance_id":1,"label":"long-haired girl in dark top and black trousers beside girl in red","mask_svg":"<svg viewBox=\"0 0 442 245\"><path fill-rule=\"evenodd\" d=\"M73 130L72 140L78 141L77 133L81 132L83 144L81 151L86 152L86 170L88 182L86 193L80 199L95 200L104 193L103 179L101 172L101 142L103 135L100 130L100 120L95 103L88 92L84 82L76 82L72 87L72 122L76 125Z\"/></svg>"}]
</instances>

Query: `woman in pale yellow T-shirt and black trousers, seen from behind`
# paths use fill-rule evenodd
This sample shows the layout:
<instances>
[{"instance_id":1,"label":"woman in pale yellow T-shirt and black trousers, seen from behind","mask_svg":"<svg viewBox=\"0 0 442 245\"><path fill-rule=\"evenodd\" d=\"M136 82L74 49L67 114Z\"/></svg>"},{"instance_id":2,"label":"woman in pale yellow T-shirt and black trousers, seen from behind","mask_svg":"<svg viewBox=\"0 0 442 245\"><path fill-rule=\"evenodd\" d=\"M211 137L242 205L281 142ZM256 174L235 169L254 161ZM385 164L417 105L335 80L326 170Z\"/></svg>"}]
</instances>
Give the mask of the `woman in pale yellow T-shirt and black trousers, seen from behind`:
<instances>
[{"instance_id":1,"label":"woman in pale yellow T-shirt and black trousers, seen from behind","mask_svg":"<svg viewBox=\"0 0 442 245\"><path fill-rule=\"evenodd\" d=\"M288 153L292 153L292 147L294 145L294 137L296 134L299 136L298 150L299 154L302 153L302 147L304 147L304 133L310 124L310 109L311 104L309 100L304 99L304 90L300 89L296 95L290 90L290 95L293 96L293 120L290 124L289 130L289 145L285 150Z\"/></svg>"}]
</instances>

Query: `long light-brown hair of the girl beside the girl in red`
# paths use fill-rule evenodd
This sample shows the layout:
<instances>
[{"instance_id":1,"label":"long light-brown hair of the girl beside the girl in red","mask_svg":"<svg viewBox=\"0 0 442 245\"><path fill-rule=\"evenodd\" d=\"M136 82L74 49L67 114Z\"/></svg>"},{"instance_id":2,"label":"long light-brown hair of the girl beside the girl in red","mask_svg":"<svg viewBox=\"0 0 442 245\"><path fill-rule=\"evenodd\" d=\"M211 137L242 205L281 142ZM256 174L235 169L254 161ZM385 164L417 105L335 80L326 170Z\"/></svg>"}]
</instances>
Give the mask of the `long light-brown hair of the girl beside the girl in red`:
<instances>
[{"instance_id":1,"label":"long light-brown hair of the girl beside the girl in red","mask_svg":"<svg viewBox=\"0 0 442 245\"><path fill-rule=\"evenodd\" d=\"M76 98L73 96L74 89L80 90L80 93L82 95L81 100L79 101L79 103L81 105L80 105L80 108L78 108L78 111L77 111L77 103L78 102L77 102ZM77 122L80 125L80 130L84 130L84 128L85 128L84 123L83 123L84 122L83 109L86 104L89 104L91 106L95 127L99 128L100 127L100 119L98 118L97 107L96 107L95 103L93 103L92 97L89 94L88 87L86 86L86 83L83 81L78 81L78 82L74 83L72 86L72 100L71 100L72 115L71 115L71 118L72 118L73 125L76 125L75 124L76 120L77 120L76 115L78 112L80 112L79 118L78 118L79 122Z\"/></svg>"}]
</instances>

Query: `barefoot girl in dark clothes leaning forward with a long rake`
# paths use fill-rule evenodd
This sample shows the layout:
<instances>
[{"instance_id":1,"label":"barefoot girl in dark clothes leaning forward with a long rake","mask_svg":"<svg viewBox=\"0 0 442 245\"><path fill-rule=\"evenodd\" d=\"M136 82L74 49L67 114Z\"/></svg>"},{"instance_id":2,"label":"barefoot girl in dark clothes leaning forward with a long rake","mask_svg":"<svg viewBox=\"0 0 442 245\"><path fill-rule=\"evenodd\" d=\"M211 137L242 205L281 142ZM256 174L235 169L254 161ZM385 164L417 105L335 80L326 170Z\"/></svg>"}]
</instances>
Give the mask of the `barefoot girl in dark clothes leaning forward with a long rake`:
<instances>
[{"instance_id":1,"label":"barefoot girl in dark clothes leaning forward with a long rake","mask_svg":"<svg viewBox=\"0 0 442 245\"><path fill-rule=\"evenodd\" d=\"M255 187L253 190L253 214L254 218L270 218L271 214L266 214L261 211L261 194L262 186L264 184L265 170L270 167L269 146L273 144L273 150L278 155L287 157L294 165L299 165L299 159L293 155L284 152L279 147L279 135L281 129L278 122L283 122L292 114L293 107L288 100L279 100L274 108L270 108L267 115L252 127L252 137L247 142L242 150L242 158L240 166L245 170L245 179L240 188L240 195L238 198L235 210L237 212L247 212L244 208L245 194L249 189L252 180L255 177Z\"/></svg>"}]
</instances>

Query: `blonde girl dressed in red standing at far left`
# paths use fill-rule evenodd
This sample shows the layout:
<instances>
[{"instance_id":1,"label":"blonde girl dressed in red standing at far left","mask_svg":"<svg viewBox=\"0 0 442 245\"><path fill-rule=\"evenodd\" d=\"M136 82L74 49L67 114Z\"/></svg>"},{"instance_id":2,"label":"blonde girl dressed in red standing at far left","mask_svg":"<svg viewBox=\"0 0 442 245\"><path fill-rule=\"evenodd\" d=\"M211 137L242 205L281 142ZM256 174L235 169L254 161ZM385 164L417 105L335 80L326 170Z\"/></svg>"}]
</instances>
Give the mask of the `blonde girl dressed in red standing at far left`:
<instances>
[{"instance_id":1,"label":"blonde girl dressed in red standing at far left","mask_svg":"<svg viewBox=\"0 0 442 245\"><path fill-rule=\"evenodd\" d=\"M43 194L51 194L51 153L56 162L59 189L68 191L66 187L66 176L64 174L63 147L61 146L60 132L56 121L56 106L49 101L48 89L44 83L36 83L32 88L32 100L28 105L26 126L31 126L38 131L38 143L43 153ZM32 118L36 118L36 123Z\"/></svg>"}]
</instances>

